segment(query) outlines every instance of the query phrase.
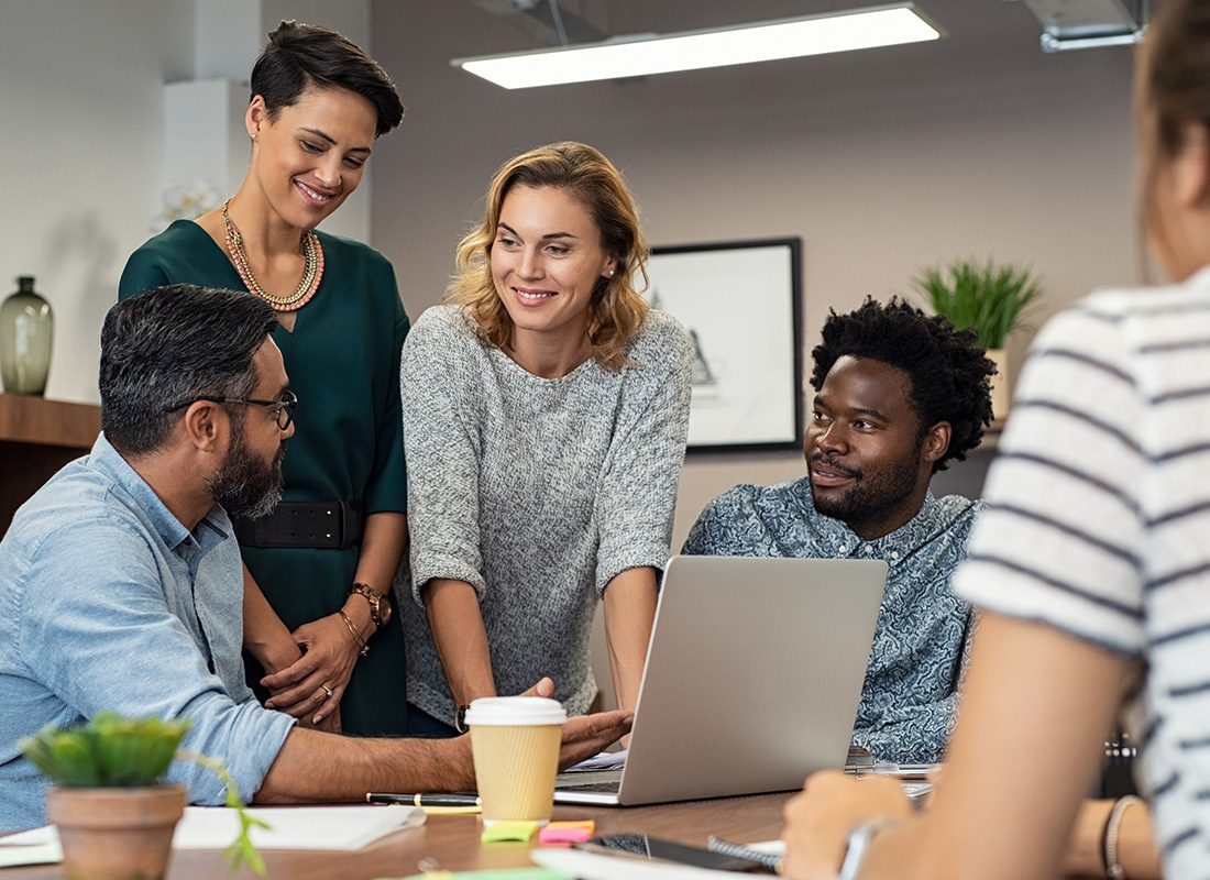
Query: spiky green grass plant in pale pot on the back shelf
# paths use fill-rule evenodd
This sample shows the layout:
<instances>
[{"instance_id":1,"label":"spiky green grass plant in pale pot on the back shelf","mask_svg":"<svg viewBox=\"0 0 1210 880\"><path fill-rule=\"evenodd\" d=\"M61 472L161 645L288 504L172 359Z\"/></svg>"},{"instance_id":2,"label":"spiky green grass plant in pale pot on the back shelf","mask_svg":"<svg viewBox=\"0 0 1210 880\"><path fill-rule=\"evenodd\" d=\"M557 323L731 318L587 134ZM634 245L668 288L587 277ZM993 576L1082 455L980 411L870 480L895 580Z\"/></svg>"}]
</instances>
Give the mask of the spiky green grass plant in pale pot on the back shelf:
<instances>
[{"instance_id":1,"label":"spiky green grass plant in pale pot on the back shelf","mask_svg":"<svg viewBox=\"0 0 1210 880\"><path fill-rule=\"evenodd\" d=\"M955 260L922 269L911 280L933 311L960 329L970 328L996 364L992 413L1008 415L1008 353L1004 343L1021 326L1025 312L1042 287L1025 266L996 265L992 260Z\"/></svg>"}]
</instances>

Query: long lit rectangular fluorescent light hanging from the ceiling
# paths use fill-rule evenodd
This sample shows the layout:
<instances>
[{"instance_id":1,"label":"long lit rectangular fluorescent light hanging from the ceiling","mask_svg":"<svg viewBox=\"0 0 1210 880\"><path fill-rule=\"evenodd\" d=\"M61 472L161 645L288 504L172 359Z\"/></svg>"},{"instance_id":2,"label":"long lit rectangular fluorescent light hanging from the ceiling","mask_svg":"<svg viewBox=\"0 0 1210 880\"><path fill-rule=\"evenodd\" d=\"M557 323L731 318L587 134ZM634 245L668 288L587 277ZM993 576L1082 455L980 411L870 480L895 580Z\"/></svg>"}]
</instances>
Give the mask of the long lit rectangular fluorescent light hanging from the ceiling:
<instances>
[{"instance_id":1,"label":"long lit rectangular fluorescent light hanging from the ceiling","mask_svg":"<svg viewBox=\"0 0 1210 880\"><path fill-rule=\"evenodd\" d=\"M737 28L455 58L450 64L505 88L531 88L893 46L935 40L940 35L911 2L898 2Z\"/></svg>"}]
</instances>

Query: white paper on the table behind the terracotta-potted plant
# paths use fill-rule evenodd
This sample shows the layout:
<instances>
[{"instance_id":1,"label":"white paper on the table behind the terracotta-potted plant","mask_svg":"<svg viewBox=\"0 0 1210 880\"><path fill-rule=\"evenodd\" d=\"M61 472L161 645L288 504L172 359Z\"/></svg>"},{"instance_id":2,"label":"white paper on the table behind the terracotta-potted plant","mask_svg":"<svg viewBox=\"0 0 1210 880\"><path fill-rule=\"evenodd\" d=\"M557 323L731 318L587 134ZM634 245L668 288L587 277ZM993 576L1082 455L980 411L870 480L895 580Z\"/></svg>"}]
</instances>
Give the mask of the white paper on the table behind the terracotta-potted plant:
<instances>
[{"instance_id":1,"label":"white paper on the table behind the terracotta-potted plant","mask_svg":"<svg viewBox=\"0 0 1210 880\"><path fill-rule=\"evenodd\" d=\"M253 828L258 850L359 850L402 828L425 823L425 813L414 806L280 806L254 807L249 813L271 827ZM225 850L235 840L240 819L226 807L189 806L172 838L174 850ZM17 853L21 844L59 845L53 826L4 838L0 856ZM25 847L19 847L25 849ZM58 861L58 859L56 859ZM0 862L33 864L33 862Z\"/></svg>"}]
</instances>

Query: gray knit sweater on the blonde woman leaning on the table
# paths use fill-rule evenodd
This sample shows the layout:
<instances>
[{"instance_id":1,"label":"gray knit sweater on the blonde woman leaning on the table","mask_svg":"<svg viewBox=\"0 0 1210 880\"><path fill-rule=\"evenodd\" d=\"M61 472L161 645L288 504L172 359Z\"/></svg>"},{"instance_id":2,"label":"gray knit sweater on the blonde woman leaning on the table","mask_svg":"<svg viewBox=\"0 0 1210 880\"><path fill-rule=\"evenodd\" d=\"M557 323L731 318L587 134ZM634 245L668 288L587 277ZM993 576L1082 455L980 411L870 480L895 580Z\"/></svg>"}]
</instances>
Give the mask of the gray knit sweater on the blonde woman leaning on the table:
<instances>
[{"instance_id":1,"label":"gray knit sweater on the blonde woman leaning on the table","mask_svg":"<svg viewBox=\"0 0 1210 880\"><path fill-rule=\"evenodd\" d=\"M408 700L449 724L454 702L420 587L471 583L500 694L542 675L572 714L597 694L593 611L621 571L663 568L688 430L692 355L652 311L634 367L588 360L560 379L485 345L456 306L421 315L403 349L410 573L398 585ZM411 602L408 602L408 594Z\"/></svg>"}]
</instances>

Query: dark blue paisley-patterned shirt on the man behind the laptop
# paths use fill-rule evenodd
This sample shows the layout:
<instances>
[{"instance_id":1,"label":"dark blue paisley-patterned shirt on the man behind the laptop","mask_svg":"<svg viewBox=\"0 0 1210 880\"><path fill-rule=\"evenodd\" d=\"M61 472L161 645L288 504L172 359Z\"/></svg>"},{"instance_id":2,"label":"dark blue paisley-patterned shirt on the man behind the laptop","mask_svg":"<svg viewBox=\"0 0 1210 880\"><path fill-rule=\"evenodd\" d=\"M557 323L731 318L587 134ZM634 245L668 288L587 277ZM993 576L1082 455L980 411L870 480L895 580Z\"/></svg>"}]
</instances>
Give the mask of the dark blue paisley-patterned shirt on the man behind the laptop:
<instances>
[{"instance_id":1,"label":"dark blue paisley-patterned shirt on the man behind the laptop","mask_svg":"<svg viewBox=\"0 0 1210 880\"><path fill-rule=\"evenodd\" d=\"M926 497L889 535L866 541L816 510L807 477L737 485L711 501L684 553L882 559L889 566L853 742L883 760L933 763L953 726L970 611L950 589L983 504Z\"/></svg>"}]
</instances>

